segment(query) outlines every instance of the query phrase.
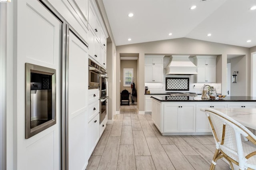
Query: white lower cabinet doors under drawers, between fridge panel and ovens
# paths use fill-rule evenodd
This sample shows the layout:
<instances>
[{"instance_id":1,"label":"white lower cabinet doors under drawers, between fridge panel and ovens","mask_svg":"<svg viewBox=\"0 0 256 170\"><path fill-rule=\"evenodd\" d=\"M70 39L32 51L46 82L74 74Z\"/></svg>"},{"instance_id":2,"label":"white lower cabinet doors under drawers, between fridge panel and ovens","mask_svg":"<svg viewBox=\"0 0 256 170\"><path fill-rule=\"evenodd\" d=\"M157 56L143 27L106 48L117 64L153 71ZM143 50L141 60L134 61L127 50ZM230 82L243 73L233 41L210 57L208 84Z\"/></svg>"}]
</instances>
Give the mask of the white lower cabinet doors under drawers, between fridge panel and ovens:
<instances>
[{"instance_id":1,"label":"white lower cabinet doors under drawers, between fridge panel and ovens","mask_svg":"<svg viewBox=\"0 0 256 170\"><path fill-rule=\"evenodd\" d=\"M98 113L87 126L87 146L88 146L88 158L92 154L94 147L96 146L100 138L100 114Z\"/></svg>"}]
</instances>

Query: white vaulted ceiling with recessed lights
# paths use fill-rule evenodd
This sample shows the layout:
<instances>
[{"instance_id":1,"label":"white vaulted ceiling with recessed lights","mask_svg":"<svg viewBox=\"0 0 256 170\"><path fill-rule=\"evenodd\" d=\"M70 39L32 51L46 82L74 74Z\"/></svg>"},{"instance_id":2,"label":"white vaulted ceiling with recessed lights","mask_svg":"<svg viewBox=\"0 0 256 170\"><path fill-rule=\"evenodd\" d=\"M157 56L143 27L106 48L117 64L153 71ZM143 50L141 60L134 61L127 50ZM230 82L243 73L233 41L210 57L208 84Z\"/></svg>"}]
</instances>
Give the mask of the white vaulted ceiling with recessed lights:
<instances>
[{"instance_id":1,"label":"white vaulted ceiling with recessed lights","mask_svg":"<svg viewBox=\"0 0 256 170\"><path fill-rule=\"evenodd\" d=\"M116 45L185 37L256 46L256 10L250 10L256 0L103 0L103 3ZM193 5L196 8L191 10ZM134 16L128 17L129 13Z\"/></svg>"}]
</instances>

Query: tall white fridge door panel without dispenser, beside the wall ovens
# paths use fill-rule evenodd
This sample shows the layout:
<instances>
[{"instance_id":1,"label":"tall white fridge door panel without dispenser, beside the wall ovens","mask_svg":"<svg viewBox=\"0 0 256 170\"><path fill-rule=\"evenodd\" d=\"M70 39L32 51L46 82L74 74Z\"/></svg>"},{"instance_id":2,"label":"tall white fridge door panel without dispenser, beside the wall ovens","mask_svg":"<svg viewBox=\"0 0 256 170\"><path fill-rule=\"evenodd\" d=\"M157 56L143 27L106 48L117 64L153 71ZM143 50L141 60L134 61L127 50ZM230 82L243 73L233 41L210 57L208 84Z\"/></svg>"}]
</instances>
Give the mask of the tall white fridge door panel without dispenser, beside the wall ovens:
<instances>
[{"instance_id":1,"label":"tall white fridge door panel without dispenser, beside the wall ovens","mask_svg":"<svg viewBox=\"0 0 256 170\"><path fill-rule=\"evenodd\" d=\"M69 32L67 118L69 169L83 169L86 166L87 68L88 48L72 32Z\"/></svg>"}]
</instances>

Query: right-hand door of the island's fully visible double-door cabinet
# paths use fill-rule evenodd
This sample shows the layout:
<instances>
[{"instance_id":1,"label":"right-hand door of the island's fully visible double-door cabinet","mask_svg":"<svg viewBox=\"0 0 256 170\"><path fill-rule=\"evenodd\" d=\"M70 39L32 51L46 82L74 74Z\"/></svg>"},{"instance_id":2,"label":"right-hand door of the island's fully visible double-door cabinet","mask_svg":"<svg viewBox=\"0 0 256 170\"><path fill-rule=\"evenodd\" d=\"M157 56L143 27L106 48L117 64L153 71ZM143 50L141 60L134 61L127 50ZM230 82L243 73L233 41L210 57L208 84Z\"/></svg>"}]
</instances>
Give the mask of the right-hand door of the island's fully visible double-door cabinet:
<instances>
[{"instance_id":1,"label":"right-hand door of the island's fully visible double-door cabinet","mask_svg":"<svg viewBox=\"0 0 256 170\"><path fill-rule=\"evenodd\" d=\"M180 115L180 132L196 131L196 105L182 105L179 107Z\"/></svg>"}]
</instances>

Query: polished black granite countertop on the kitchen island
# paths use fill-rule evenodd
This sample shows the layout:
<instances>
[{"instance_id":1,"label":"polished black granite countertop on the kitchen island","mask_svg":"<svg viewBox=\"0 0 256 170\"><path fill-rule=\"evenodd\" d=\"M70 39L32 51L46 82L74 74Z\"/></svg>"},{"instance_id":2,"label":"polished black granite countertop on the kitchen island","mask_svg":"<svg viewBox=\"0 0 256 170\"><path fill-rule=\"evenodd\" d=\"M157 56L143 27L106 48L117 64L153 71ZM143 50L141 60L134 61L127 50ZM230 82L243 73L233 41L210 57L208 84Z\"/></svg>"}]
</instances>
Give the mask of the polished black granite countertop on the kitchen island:
<instances>
[{"instance_id":1,"label":"polished black granite countertop on the kitchen island","mask_svg":"<svg viewBox=\"0 0 256 170\"><path fill-rule=\"evenodd\" d=\"M158 100L158 101L214 101L214 102L225 102L225 101L255 101L256 97L250 97L250 96L226 96L223 99L201 99L201 97L190 97L190 96L160 96L160 97L154 97L152 98Z\"/></svg>"}]
</instances>

